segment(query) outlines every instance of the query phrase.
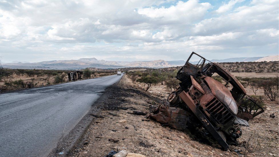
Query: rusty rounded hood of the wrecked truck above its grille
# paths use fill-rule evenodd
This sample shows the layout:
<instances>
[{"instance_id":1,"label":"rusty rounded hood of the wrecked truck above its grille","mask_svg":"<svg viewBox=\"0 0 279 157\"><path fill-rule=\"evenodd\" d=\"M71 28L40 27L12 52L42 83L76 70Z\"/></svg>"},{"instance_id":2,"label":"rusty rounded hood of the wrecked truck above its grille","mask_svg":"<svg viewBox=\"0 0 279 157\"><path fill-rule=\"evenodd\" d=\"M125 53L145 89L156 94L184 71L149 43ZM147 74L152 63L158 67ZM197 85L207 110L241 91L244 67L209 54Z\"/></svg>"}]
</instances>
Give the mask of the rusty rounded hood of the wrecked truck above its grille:
<instances>
[{"instance_id":1,"label":"rusty rounded hood of the wrecked truck above its grille","mask_svg":"<svg viewBox=\"0 0 279 157\"><path fill-rule=\"evenodd\" d=\"M204 80L208 84L212 94L220 100L223 104L225 104L233 114L237 114L238 107L237 103L232 97L231 92L221 83L214 80L212 77L205 77Z\"/></svg>"}]
</instances>

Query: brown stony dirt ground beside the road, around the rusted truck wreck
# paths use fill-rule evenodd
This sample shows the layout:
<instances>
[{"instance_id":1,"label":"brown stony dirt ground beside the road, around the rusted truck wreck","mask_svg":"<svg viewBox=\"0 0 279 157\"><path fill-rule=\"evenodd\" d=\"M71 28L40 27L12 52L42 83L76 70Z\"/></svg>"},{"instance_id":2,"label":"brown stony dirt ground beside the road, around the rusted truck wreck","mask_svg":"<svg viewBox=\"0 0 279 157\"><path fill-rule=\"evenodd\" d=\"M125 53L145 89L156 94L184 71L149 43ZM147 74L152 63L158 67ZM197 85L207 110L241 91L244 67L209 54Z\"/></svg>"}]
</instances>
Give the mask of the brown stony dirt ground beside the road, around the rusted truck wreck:
<instances>
[{"instance_id":1,"label":"brown stony dirt ground beside the road, around the rusted truck wreck","mask_svg":"<svg viewBox=\"0 0 279 157\"><path fill-rule=\"evenodd\" d=\"M119 95L111 94L103 102L100 114L103 117L93 120L69 156L105 156L111 150L145 156L278 156L278 100L266 101L266 112L250 120L249 128L242 127L239 139L242 146L222 151L218 144L199 138L191 130L176 130L146 116L127 113L134 110L151 113L170 93L165 85L152 86L146 92L143 84L133 84L124 75L117 86ZM275 118L269 116L272 113Z\"/></svg>"}]
</instances>

